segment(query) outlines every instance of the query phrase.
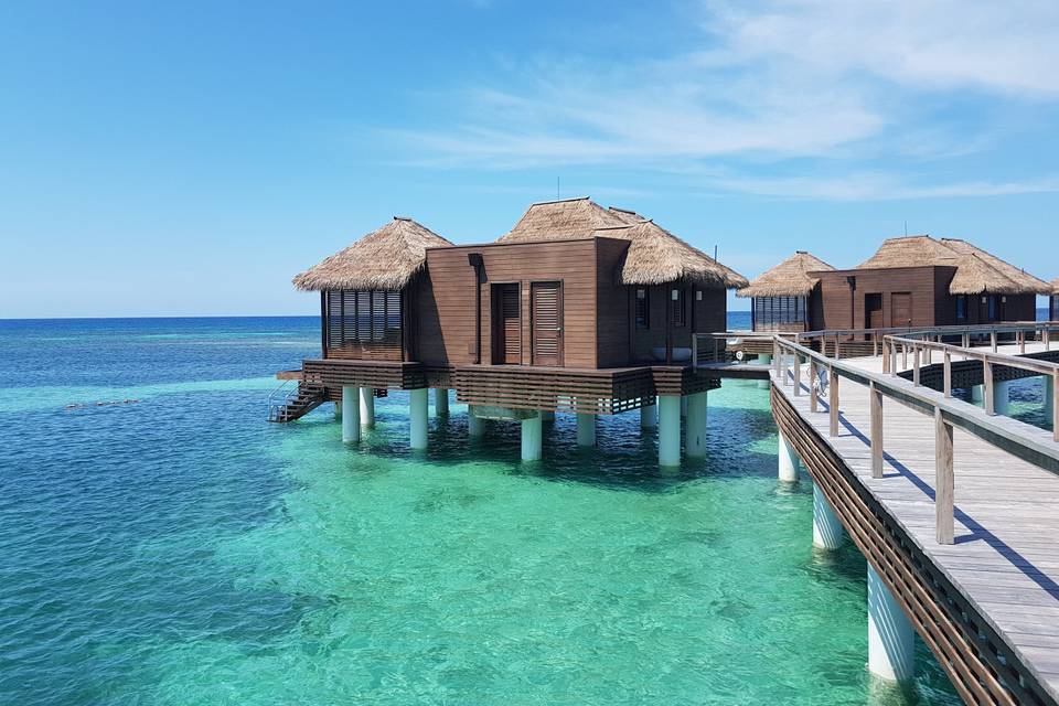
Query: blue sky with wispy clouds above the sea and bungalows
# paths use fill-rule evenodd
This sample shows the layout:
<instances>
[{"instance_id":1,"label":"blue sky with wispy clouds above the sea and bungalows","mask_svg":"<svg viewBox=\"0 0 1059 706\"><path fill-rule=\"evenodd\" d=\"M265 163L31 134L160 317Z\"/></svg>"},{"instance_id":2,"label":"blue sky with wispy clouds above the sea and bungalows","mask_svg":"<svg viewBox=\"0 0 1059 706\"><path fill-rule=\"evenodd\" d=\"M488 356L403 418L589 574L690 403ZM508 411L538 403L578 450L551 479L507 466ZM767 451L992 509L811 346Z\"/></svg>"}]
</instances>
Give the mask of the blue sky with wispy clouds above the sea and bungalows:
<instances>
[{"instance_id":1,"label":"blue sky with wispy clouds above the sea and bungalows","mask_svg":"<svg viewBox=\"0 0 1059 706\"><path fill-rule=\"evenodd\" d=\"M0 318L313 313L393 215L557 178L749 277L907 222L1052 279L1057 66L1053 1L6 2Z\"/></svg>"}]
</instances>

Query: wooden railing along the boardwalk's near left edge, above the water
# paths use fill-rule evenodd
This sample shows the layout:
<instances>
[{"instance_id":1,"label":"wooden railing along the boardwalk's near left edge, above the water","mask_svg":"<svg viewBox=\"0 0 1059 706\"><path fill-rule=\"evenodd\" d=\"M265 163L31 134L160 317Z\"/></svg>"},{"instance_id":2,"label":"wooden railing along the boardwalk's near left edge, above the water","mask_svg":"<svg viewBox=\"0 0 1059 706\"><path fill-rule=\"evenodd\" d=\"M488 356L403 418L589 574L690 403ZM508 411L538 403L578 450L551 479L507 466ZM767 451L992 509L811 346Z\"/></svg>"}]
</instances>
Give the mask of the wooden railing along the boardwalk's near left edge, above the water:
<instances>
[{"instance_id":1,"label":"wooden railing along the boardwalk's near left edge, above the water","mask_svg":"<svg viewBox=\"0 0 1059 706\"><path fill-rule=\"evenodd\" d=\"M934 421L934 507L935 538L939 544L952 544L954 521L953 429L969 434L1059 475L1059 441L1042 430L1014 419L997 419L980 407L944 396L942 393L916 386L903 378L869 373L836 359L825 357L800 343L773 339L775 378L783 386L793 384L793 395L802 395L802 366L807 363L810 381L816 381L821 371L827 372L828 436L837 437L841 427L839 379L868 388L870 410L871 477L882 478L884 434L882 398L933 417ZM1006 364L1006 363L1005 363ZM824 386L811 384L810 411L819 408L819 396Z\"/></svg>"}]
</instances>

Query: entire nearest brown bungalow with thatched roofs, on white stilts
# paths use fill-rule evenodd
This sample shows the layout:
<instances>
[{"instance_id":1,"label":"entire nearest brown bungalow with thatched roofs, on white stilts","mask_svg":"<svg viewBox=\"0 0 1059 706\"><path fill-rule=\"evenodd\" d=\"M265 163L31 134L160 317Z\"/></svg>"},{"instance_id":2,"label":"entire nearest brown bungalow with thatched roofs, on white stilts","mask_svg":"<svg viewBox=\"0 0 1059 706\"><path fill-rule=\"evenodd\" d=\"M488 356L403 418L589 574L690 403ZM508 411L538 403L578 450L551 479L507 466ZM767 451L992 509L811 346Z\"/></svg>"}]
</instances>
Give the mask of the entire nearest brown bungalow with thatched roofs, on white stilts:
<instances>
[{"instance_id":1,"label":"entire nearest brown bungalow with thatched roofs, on white stilts","mask_svg":"<svg viewBox=\"0 0 1059 706\"><path fill-rule=\"evenodd\" d=\"M303 362L276 421L341 402L343 437L356 440L374 397L405 389L411 446L425 448L427 389L443 413L454 388L472 436L481 419L518 420L533 460L542 413L577 413L590 445L596 415L639 408L660 427L664 466L680 462L684 398L687 452L705 453L705 393L719 383L692 365L693 333L725 331L726 290L748 284L650 218L589 199L533 204L478 245L396 217L293 281L320 292L321 356Z\"/></svg>"}]
</instances>

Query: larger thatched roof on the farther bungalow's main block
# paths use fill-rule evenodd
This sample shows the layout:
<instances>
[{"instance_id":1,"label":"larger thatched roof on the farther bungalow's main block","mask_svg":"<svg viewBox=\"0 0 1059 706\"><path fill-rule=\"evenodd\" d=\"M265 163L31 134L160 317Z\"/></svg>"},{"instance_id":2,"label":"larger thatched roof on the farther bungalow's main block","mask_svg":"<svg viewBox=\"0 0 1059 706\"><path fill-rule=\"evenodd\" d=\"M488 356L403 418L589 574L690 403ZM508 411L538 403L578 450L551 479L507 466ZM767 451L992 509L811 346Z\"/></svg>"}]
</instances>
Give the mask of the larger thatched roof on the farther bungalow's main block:
<instances>
[{"instance_id":1,"label":"larger thatched roof on the farther bungalow's main block","mask_svg":"<svg viewBox=\"0 0 1059 706\"><path fill-rule=\"evenodd\" d=\"M1048 285L1014 265L965 240L929 235L888 238L857 269L922 266L955 267L950 295L1033 295L1044 293Z\"/></svg>"}]
</instances>

